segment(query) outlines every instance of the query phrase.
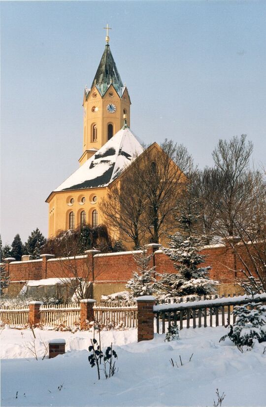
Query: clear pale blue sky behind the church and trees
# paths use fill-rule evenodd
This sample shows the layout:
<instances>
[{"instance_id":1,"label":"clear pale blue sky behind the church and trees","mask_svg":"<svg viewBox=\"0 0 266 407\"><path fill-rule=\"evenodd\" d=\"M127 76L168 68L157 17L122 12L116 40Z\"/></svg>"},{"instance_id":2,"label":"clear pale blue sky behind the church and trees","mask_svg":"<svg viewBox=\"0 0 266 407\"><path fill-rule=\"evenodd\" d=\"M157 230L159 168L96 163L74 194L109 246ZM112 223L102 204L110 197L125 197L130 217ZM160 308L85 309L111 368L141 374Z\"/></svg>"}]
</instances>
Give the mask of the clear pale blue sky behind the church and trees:
<instances>
[{"instance_id":1,"label":"clear pale blue sky behind the church and trees","mask_svg":"<svg viewBox=\"0 0 266 407\"><path fill-rule=\"evenodd\" d=\"M266 1L2 1L1 234L47 236L49 193L78 168L82 100L110 48L146 143L183 143L200 168L219 138L266 153Z\"/></svg>"}]
</instances>

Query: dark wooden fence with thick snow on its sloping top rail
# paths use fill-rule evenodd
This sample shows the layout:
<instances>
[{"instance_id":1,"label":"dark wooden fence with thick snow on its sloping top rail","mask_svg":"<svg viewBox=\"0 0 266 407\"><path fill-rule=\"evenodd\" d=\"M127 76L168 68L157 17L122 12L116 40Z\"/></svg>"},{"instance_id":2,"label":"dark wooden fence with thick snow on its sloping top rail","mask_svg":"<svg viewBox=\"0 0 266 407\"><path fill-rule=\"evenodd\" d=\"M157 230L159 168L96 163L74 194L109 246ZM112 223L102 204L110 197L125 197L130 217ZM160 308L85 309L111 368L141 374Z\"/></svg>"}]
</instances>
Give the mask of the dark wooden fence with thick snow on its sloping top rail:
<instances>
[{"instance_id":1,"label":"dark wooden fence with thick snow on its sloping top rail","mask_svg":"<svg viewBox=\"0 0 266 407\"><path fill-rule=\"evenodd\" d=\"M193 328L197 326L225 326L235 322L235 316L232 315L234 305L243 305L250 302L247 296L217 298L214 300L202 300L187 302L183 304L161 304L154 305L153 312L156 317L156 332L165 333L166 325L170 327L171 322L176 326L179 323L179 329L190 328L192 320ZM266 303L266 293L257 294L254 302L260 301Z\"/></svg>"}]
</instances>

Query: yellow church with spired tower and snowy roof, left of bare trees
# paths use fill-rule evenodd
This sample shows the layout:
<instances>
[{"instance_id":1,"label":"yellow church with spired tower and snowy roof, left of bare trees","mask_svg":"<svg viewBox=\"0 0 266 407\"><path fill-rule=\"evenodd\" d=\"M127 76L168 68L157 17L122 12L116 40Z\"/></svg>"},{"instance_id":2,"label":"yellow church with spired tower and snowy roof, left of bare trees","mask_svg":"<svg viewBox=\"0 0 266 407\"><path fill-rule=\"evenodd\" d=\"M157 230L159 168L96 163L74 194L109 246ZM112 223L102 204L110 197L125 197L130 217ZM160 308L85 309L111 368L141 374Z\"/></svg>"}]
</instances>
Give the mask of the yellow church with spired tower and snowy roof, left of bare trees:
<instances>
[{"instance_id":1,"label":"yellow church with spired tower and snowy roof, left of bare trees","mask_svg":"<svg viewBox=\"0 0 266 407\"><path fill-rule=\"evenodd\" d=\"M53 190L49 204L48 237L87 223L103 222L99 203L109 185L143 152L130 130L131 100L113 59L108 35L91 88L83 98L83 140L80 167Z\"/></svg>"}]
</instances>

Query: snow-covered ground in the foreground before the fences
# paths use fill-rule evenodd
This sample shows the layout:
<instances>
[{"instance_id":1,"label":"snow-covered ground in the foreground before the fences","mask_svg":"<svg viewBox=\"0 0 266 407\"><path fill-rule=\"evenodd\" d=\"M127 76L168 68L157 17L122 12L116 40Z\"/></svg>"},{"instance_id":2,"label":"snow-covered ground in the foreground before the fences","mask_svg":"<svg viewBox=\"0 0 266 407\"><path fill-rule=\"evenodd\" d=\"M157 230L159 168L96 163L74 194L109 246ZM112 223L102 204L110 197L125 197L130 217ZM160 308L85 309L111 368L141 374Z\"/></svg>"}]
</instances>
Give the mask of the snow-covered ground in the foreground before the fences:
<instances>
[{"instance_id":1,"label":"snow-covered ground in the foreground before the fences","mask_svg":"<svg viewBox=\"0 0 266 407\"><path fill-rule=\"evenodd\" d=\"M183 329L172 342L155 335L137 343L134 329L102 332L103 347L113 342L118 354L107 380L88 362L92 333L34 331L41 357L40 338L66 339L66 354L36 361L23 344L31 330L1 330L1 406L213 406L217 388L222 407L266 406L266 343L242 354L229 339L219 343L224 327Z\"/></svg>"}]
</instances>

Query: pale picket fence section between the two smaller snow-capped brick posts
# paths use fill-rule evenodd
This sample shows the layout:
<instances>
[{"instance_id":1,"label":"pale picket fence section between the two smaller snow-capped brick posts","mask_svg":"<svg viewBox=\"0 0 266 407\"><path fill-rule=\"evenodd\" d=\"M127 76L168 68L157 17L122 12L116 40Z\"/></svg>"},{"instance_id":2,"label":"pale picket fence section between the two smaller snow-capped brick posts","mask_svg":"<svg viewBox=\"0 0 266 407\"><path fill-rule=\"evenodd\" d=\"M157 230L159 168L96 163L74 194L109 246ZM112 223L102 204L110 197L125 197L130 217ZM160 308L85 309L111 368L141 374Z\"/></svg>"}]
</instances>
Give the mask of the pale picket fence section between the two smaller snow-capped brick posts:
<instances>
[{"instance_id":1,"label":"pale picket fence section between the two smaller snow-capped brick posts","mask_svg":"<svg viewBox=\"0 0 266 407\"><path fill-rule=\"evenodd\" d=\"M42 305L40 307L40 323L43 326L73 328L79 325L79 304Z\"/></svg>"}]
</instances>

